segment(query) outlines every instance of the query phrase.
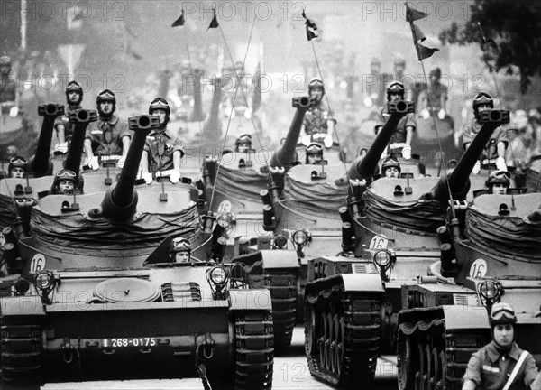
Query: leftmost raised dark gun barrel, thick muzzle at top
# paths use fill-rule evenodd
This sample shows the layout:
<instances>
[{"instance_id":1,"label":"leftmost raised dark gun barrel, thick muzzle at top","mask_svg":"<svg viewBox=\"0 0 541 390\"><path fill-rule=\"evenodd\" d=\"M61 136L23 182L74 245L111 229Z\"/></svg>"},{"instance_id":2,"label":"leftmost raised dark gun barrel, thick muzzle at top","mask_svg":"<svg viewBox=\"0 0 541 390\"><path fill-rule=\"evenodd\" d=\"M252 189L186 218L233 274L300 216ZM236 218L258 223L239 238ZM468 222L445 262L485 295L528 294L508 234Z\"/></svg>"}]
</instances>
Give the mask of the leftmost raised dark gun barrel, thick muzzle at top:
<instances>
[{"instance_id":1,"label":"leftmost raised dark gun barrel, thick muzzle at top","mask_svg":"<svg viewBox=\"0 0 541 390\"><path fill-rule=\"evenodd\" d=\"M64 114L64 106L52 103L40 105L38 107L38 114L43 116L43 123L41 124L38 147L30 163L30 170L35 177L52 173L52 163L50 162L52 131L56 117Z\"/></svg>"}]
</instances>

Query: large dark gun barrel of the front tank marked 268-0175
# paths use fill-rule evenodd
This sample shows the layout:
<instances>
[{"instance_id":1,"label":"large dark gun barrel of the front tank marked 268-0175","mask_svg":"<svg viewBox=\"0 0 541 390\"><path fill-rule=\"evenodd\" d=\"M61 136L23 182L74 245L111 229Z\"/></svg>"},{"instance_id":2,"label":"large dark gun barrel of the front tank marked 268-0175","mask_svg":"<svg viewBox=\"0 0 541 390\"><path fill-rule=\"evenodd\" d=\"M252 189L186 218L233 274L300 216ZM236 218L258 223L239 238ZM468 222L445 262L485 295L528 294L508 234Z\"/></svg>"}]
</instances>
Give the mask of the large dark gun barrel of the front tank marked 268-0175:
<instances>
[{"instance_id":1,"label":"large dark gun barrel of the front tank marked 268-0175","mask_svg":"<svg viewBox=\"0 0 541 390\"><path fill-rule=\"evenodd\" d=\"M133 217L137 208L137 191L135 180L141 163L142 149L152 128L160 125L158 116L133 116L129 119L133 140L126 155L126 161L118 181L105 193L101 209L90 211L92 217L103 216L115 220L126 220Z\"/></svg>"}]
</instances>

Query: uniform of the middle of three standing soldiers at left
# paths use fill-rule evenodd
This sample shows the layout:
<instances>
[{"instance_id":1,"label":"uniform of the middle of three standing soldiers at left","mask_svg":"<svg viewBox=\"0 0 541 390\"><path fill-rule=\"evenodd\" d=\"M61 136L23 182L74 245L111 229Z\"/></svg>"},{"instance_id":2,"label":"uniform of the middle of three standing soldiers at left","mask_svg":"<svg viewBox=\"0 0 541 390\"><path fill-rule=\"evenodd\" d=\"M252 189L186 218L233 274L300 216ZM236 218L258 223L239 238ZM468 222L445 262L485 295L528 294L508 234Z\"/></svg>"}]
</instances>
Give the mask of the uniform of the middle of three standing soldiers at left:
<instances>
[{"instance_id":1,"label":"uniform of the middle of three standing soldiers at left","mask_svg":"<svg viewBox=\"0 0 541 390\"><path fill-rule=\"evenodd\" d=\"M111 134L110 143L107 143L105 139L107 132ZM85 138L92 142L92 153L94 154L122 154L124 136L132 138L132 131L128 129L128 125L123 120L115 115L109 119L99 116L96 122L90 122L85 134Z\"/></svg>"}]
</instances>

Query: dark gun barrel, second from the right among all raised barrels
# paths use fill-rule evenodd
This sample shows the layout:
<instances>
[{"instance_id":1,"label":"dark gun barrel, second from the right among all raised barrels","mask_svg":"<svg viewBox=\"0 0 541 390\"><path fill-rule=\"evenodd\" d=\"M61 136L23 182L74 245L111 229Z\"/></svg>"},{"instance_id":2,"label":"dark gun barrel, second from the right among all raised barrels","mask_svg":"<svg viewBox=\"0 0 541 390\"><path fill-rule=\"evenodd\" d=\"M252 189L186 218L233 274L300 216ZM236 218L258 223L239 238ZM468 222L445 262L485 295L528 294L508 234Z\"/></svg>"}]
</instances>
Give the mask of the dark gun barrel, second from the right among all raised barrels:
<instances>
[{"instance_id":1,"label":"dark gun barrel, second from the right among all raised barrels","mask_svg":"<svg viewBox=\"0 0 541 390\"><path fill-rule=\"evenodd\" d=\"M390 138L394 134L397 125L399 125L400 119L406 116L406 114L413 112L413 103L406 100L391 102L388 104L388 111L390 113L389 119L381 127L380 133L366 155L364 157L357 157L350 165L347 174L351 180L371 180L380 162L381 153L383 153L387 144L389 144Z\"/></svg>"}]
</instances>

